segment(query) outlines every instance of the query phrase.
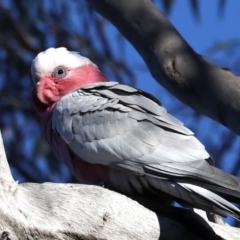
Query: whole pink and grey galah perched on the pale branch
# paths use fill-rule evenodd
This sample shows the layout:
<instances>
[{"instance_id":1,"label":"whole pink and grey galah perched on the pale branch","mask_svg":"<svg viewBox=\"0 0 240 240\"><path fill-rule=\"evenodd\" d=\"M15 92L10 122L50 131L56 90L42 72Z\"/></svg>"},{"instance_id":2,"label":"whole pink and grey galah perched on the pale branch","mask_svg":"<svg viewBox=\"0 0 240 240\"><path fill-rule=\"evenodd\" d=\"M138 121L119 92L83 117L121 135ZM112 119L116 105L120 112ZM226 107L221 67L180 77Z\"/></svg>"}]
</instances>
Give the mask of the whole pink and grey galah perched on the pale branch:
<instances>
[{"instance_id":1,"label":"whole pink and grey galah perched on the pale branch","mask_svg":"<svg viewBox=\"0 0 240 240\"><path fill-rule=\"evenodd\" d=\"M49 48L33 60L32 99L54 152L84 184L240 220L240 179L214 167L182 122L142 90L110 82L88 58Z\"/></svg>"}]
</instances>

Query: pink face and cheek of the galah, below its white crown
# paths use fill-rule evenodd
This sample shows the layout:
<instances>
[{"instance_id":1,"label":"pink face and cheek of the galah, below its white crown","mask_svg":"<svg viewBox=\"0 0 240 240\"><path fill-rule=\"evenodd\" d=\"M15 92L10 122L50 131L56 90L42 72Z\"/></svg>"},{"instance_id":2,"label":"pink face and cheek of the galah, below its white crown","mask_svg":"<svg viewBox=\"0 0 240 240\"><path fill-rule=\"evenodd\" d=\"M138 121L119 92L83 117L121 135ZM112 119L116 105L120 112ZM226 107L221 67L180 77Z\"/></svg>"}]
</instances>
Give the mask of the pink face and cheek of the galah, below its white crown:
<instances>
[{"instance_id":1,"label":"pink face and cheek of the galah, below its white crown","mask_svg":"<svg viewBox=\"0 0 240 240\"><path fill-rule=\"evenodd\" d=\"M52 72L39 77L32 92L36 109L45 111L67 93L94 82L106 82L108 79L93 64L75 69L57 66Z\"/></svg>"}]
</instances>

